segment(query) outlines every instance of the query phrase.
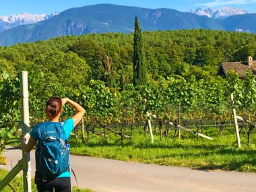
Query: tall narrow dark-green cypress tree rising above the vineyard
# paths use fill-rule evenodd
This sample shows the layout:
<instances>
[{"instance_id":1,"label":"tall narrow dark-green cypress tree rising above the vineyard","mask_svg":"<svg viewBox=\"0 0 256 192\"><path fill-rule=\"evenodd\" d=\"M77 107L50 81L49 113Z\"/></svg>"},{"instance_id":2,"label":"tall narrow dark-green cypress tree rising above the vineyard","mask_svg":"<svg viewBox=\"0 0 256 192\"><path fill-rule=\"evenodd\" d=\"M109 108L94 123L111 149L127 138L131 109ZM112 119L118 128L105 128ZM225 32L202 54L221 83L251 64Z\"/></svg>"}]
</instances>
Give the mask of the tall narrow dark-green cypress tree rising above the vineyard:
<instances>
[{"instance_id":1,"label":"tall narrow dark-green cypress tree rising above the vineyard","mask_svg":"<svg viewBox=\"0 0 256 192\"><path fill-rule=\"evenodd\" d=\"M138 18L135 18L133 43L133 86L146 84L146 66L144 62L143 42Z\"/></svg>"}]
</instances>

